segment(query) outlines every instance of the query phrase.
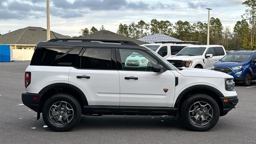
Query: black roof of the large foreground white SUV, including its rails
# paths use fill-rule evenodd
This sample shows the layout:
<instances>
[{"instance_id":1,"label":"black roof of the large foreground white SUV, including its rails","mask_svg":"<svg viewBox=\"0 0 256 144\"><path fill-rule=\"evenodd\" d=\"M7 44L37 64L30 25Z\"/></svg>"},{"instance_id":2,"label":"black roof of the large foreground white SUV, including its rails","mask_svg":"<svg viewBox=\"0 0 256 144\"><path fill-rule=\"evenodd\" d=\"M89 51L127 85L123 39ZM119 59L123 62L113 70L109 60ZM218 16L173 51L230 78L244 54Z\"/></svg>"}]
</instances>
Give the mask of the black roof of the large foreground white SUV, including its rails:
<instances>
[{"instance_id":1,"label":"black roof of the large foreground white SUV, including its rails","mask_svg":"<svg viewBox=\"0 0 256 144\"><path fill-rule=\"evenodd\" d=\"M101 48L138 48L150 50L130 40L106 40L85 38L58 38L47 42L38 42L36 48L74 48L74 47L101 47Z\"/></svg>"}]
</instances>

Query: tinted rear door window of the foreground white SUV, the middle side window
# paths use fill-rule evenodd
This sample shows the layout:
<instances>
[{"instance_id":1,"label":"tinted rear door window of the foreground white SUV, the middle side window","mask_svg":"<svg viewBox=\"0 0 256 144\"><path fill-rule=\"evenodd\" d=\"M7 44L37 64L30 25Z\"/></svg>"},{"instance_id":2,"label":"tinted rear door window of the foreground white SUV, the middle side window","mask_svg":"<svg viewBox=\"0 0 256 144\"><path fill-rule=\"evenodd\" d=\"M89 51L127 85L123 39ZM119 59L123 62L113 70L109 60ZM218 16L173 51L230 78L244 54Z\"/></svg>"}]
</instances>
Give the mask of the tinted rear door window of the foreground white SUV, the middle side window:
<instances>
[{"instance_id":1,"label":"tinted rear door window of the foreground white SUV, the middle side window","mask_svg":"<svg viewBox=\"0 0 256 144\"><path fill-rule=\"evenodd\" d=\"M111 70L111 49L110 48L86 48L81 68Z\"/></svg>"}]
</instances>

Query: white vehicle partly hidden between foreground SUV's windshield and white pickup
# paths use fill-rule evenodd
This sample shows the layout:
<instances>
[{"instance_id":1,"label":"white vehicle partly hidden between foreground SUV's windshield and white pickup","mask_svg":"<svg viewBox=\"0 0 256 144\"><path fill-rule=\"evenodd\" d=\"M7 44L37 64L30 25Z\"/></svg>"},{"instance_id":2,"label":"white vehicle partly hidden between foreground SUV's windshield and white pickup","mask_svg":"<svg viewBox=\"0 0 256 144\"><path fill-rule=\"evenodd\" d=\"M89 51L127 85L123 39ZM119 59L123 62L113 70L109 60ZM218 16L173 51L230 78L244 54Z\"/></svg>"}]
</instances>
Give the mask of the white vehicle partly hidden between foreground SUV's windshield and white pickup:
<instances>
[{"instance_id":1,"label":"white vehicle partly hidden between foreground SUV's windshield and white pickup","mask_svg":"<svg viewBox=\"0 0 256 144\"><path fill-rule=\"evenodd\" d=\"M163 58L168 58L169 56L174 56L178 54L180 50L182 50L186 46L191 46L192 44L143 44L142 46L146 46L158 53Z\"/></svg>"}]
</instances>

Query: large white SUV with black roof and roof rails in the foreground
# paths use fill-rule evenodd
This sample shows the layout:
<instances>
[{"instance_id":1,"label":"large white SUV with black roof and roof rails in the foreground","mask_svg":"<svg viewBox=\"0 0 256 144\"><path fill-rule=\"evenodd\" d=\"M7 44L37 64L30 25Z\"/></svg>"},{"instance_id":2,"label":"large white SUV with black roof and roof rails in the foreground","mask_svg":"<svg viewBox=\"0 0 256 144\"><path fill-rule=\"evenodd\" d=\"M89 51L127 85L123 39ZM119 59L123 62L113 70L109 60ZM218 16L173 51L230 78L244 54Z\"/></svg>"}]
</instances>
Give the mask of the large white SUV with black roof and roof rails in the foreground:
<instances>
[{"instance_id":1,"label":"large white SUV with black roof and roof rails in the foreground","mask_svg":"<svg viewBox=\"0 0 256 144\"><path fill-rule=\"evenodd\" d=\"M146 66L126 66L138 53ZM212 70L178 70L144 46L125 40L52 39L36 45L25 72L23 103L54 131L68 131L81 115L181 116L206 131L238 98L233 77Z\"/></svg>"}]
</instances>

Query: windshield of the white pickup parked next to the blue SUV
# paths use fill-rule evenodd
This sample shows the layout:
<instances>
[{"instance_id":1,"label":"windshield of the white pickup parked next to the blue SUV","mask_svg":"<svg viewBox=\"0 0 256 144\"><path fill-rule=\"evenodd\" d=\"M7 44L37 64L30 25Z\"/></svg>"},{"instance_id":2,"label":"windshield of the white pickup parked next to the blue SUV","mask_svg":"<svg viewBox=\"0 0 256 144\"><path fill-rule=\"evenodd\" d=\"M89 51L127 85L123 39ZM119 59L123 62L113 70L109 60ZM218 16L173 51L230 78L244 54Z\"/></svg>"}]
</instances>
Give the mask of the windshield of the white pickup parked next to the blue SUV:
<instances>
[{"instance_id":1,"label":"windshield of the white pickup parked next to the blue SUV","mask_svg":"<svg viewBox=\"0 0 256 144\"><path fill-rule=\"evenodd\" d=\"M205 47L185 47L177 56L200 56L204 53Z\"/></svg>"}]
</instances>

